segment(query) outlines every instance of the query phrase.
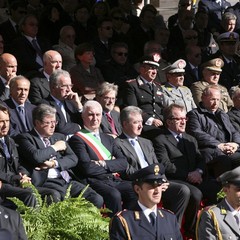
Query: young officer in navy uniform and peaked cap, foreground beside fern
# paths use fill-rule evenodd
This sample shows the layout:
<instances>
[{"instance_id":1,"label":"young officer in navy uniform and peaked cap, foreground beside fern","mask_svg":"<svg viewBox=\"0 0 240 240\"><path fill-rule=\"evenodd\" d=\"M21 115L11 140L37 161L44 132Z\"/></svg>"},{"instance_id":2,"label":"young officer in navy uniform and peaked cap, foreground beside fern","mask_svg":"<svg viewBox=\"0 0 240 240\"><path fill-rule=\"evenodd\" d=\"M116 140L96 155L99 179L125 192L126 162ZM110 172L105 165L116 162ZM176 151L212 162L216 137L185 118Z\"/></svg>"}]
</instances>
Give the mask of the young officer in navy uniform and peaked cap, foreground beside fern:
<instances>
[{"instance_id":1,"label":"young officer in navy uniform and peaked cap, foreground beside fern","mask_svg":"<svg viewBox=\"0 0 240 240\"><path fill-rule=\"evenodd\" d=\"M167 180L164 167L152 164L132 175L138 202L132 210L117 213L110 223L110 240L182 239L174 214L158 209Z\"/></svg>"}]
</instances>

